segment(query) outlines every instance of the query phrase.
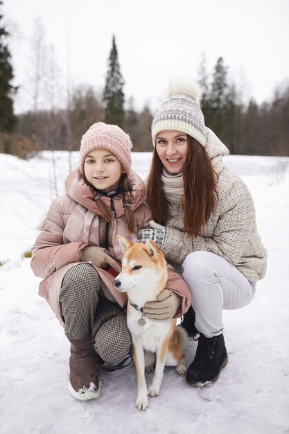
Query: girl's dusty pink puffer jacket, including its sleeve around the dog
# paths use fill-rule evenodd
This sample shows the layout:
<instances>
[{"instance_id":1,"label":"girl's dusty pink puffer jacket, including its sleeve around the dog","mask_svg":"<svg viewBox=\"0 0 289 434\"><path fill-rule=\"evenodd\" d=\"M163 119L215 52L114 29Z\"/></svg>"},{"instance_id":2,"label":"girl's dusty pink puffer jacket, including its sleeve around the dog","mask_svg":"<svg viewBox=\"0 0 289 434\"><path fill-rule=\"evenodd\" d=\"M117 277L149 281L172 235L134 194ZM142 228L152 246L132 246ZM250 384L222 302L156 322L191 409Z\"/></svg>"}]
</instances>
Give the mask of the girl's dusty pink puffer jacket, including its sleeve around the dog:
<instances>
[{"instance_id":1,"label":"girl's dusty pink puffer jacket, including its sleeve around the dog","mask_svg":"<svg viewBox=\"0 0 289 434\"><path fill-rule=\"evenodd\" d=\"M132 189L132 211L137 223L137 229L148 227L152 218L150 209L144 198L146 187L141 178L130 171L128 177ZM60 324L65 327L61 315L59 293L62 280L71 266L80 263L80 252L87 245L100 245L105 247L105 221L98 214L98 205L80 174L79 169L73 171L65 184L67 194L53 200L42 232L33 245L31 268L37 277L44 280L40 283L39 293L49 302ZM111 205L111 199L103 196L103 201ZM107 250L113 257L121 261L122 252L117 241L117 234L126 236L133 242L137 242L137 236L130 234L125 225L123 213L123 201L121 196L113 199L116 220L114 225L108 224ZM127 296L114 286L114 277L101 269L96 268L100 275L101 287L104 293L109 293L110 300L125 306ZM189 309L191 304L191 291L184 280L170 268L168 270L168 282L166 288L173 290L182 296L182 309L177 316L182 315Z\"/></svg>"}]
</instances>

